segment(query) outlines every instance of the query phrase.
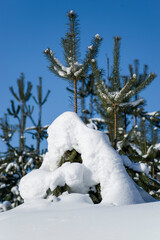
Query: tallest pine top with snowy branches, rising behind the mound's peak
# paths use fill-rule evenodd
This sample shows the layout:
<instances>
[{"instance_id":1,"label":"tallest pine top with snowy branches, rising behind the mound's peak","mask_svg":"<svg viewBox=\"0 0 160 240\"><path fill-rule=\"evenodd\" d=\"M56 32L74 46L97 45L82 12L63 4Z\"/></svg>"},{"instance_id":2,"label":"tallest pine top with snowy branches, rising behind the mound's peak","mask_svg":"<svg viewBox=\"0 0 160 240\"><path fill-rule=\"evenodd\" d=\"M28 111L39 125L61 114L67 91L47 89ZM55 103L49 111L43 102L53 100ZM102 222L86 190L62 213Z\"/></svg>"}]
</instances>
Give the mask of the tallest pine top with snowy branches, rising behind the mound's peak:
<instances>
[{"instance_id":1,"label":"tallest pine top with snowy branches, rising behind the mound's peak","mask_svg":"<svg viewBox=\"0 0 160 240\"><path fill-rule=\"evenodd\" d=\"M68 80L72 84L74 89L74 111L77 113L77 83L87 71L91 59L96 56L102 39L99 34L95 35L91 45L87 49L83 62L79 63L80 37L78 16L71 10L68 12L67 17L69 20L68 31L65 37L62 38L66 66L55 57L55 53L50 48L47 48L44 54L50 62L50 71L58 77Z\"/></svg>"}]
</instances>

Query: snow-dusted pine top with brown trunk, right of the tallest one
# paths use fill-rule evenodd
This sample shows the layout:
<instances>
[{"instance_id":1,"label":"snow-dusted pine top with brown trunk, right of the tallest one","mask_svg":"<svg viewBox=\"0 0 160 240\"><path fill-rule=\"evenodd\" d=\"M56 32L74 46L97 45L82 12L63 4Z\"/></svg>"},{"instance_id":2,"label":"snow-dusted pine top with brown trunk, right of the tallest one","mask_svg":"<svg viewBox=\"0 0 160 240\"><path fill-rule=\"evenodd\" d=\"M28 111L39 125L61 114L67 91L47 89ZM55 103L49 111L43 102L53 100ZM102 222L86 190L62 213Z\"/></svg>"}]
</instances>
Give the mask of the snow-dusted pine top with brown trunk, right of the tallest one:
<instances>
[{"instance_id":1,"label":"snow-dusted pine top with brown trunk, right of the tallest one","mask_svg":"<svg viewBox=\"0 0 160 240\"><path fill-rule=\"evenodd\" d=\"M100 74L96 65L96 62L92 62L93 73L97 78L96 83L96 93L100 105L98 109L100 112L104 112L103 115L110 116L113 119L113 138L114 138L114 148L117 149L117 137L118 137L118 126L117 121L121 118L121 114L124 109L128 109L128 107L134 109L135 106L140 105L142 103L141 100L137 100L137 102L132 101L131 97L138 94L142 89L148 86L148 84L154 80L156 75L154 73L150 73L150 75L145 77L143 81L137 84L137 76L136 74L132 74L129 79L120 81L119 74L119 48L120 48L120 38L114 38L114 66L112 76L110 77L110 87L108 87L105 82L100 78ZM136 107L137 107L136 106ZM119 114L119 116L118 116ZM118 116L118 117L117 117ZM106 117L107 118L107 117ZM122 125L122 123L121 123ZM123 125L122 125L123 126ZM125 127L126 128L126 127ZM112 129L112 126L111 126ZM110 129L109 129L110 130Z\"/></svg>"}]
</instances>

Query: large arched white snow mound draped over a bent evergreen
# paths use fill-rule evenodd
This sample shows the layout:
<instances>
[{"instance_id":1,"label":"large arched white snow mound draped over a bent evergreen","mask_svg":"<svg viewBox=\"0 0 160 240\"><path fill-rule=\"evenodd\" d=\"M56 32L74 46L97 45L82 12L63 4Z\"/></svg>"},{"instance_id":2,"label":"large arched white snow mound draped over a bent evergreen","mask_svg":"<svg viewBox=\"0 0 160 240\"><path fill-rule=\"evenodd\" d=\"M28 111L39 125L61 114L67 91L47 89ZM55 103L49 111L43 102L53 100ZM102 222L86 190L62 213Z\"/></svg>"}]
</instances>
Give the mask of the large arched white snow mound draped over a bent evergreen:
<instances>
[{"instance_id":1,"label":"large arched white snow mound draped over a bent evergreen","mask_svg":"<svg viewBox=\"0 0 160 240\"><path fill-rule=\"evenodd\" d=\"M68 163L57 168L63 154L72 149L81 154L83 164ZM73 112L63 113L48 128L48 152L42 166L22 178L20 193L25 200L40 198L48 188L54 190L65 183L79 193L87 193L100 183L102 203L145 202L106 134L88 128Z\"/></svg>"}]
</instances>

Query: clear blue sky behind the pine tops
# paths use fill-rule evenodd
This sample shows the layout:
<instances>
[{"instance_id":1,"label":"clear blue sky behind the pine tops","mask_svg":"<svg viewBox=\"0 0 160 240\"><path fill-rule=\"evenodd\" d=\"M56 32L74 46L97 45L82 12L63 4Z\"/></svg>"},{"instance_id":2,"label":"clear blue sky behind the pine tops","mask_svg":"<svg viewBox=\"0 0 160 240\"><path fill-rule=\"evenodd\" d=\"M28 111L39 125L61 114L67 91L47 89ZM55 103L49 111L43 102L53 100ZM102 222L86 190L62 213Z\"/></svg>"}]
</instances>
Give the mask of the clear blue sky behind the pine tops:
<instances>
[{"instance_id":1,"label":"clear blue sky behind the pine tops","mask_svg":"<svg viewBox=\"0 0 160 240\"><path fill-rule=\"evenodd\" d=\"M99 67L106 68L107 53L112 61L113 36L121 36L121 73L138 58L158 77L142 94L148 111L160 110L160 1L159 0L1 0L0 1L0 117L13 98L9 86L17 91L16 79L23 72L26 81L36 85L43 77L44 93L51 90L44 106L43 123L51 123L59 114L71 110L66 82L47 69L42 54L50 47L63 61L60 39L66 32L69 10L80 19L81 56L91 38L99 33L103 42L98 55Z\"/></svg>"}]
</instances>

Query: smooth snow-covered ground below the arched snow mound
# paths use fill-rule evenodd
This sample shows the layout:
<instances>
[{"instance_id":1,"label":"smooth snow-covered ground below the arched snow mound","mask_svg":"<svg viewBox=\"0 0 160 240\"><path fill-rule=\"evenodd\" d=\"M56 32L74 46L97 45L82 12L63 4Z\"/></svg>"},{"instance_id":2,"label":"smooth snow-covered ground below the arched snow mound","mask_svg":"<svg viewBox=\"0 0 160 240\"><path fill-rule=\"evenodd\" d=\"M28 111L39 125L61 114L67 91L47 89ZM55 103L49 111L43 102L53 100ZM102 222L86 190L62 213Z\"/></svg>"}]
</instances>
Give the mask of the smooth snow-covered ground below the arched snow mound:
<instances>
[{"instance_id":1,"label":"smooth snow-covered ground below the arched snow mound","mask_svg":"<svg viewBox=\"0 0 160 240\"><path fill-rule=\"evenodd\" d=\"M87 195L69 194L0 213L0 239L158 240L159 215L160 202L106 206L92 204Z\"/></svg>"}]
</instances>

